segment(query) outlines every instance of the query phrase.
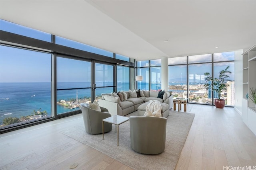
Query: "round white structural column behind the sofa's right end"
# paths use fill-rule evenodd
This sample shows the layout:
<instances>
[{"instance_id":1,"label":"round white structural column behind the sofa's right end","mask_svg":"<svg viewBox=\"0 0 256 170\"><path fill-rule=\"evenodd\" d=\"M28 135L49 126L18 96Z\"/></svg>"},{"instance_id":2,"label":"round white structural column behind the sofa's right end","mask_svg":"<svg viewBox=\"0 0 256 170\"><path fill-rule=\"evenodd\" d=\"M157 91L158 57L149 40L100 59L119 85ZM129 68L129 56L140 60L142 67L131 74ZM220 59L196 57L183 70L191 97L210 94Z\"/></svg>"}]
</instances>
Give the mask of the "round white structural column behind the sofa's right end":
<instances>
[{"instance_id":1,"label":"round white structural column behind the sofa's right end","mask_svg":"<svg viewBox=\"0 0 256 170\"><path fill-rule=\"evenodd\" d=\"M161 89L168 91L168 58L161 59Z\"/></svg>"}]
</instances>

